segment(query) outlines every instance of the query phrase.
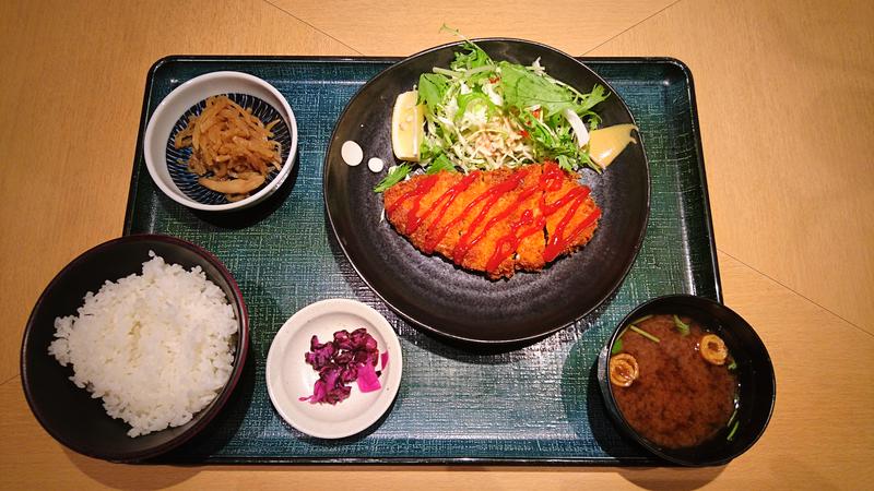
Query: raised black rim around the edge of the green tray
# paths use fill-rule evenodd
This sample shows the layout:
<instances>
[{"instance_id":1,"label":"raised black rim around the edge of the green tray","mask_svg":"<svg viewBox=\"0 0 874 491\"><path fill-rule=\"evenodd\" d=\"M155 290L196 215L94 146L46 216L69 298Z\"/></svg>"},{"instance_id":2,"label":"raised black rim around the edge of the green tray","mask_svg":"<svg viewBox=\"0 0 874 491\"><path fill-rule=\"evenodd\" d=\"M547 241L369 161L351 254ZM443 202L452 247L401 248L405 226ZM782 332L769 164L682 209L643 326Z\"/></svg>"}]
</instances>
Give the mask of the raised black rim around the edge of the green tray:
<instances>
[{"instance_id":1,"label":"raised black rim around the edge of the green tray","mask_svg":"<svg viewBox=\"0 0 874 491\"><path fill-rule=\"evenodd\" d=\"M143 137L145 127L149 123L150 106L152 105L152 91L155 85L155 77L158 71L169 63L175 62L239 62L239 63L354 63L354 64L383 64L403 60L406 57L395 56L283 56L283 55L169 55L157 59L146 72L145 86L143 87L143 101L140 110L140 125L137 134L137 146L134 148L133 163L131 166L130 184L128 189L128 200L126 204L125 221L122 236L132 235L132 218L137 202L138 177L140 163L143 161ZM712 274L714 300L723 303L722 280L719 273L718 250L716 247L716 235L713 232L712 209L710 206L710 193L707 187L707 175L705 166L704 147L701 144L700 123L698 120L698 106L695 96L695 83L689 67L682 60L673 57L581 57L574 56L582 63L599 64L661 64L672 67L680 71L686 82L686 93L689 100L689 119L692 132L694 133L693 144L697 154L697 167L700 177L701 205L704 212L705 229L708 235L708 250L710 261L708 273ZM645 239L646 241L646 239ZM377 296L378 297L378 296ZM287 456L287 457L252 457L252 456L208 456L203 459L167 459L158 456L153 459L144 460L142 464L177 464L177 465L460 465L460 466L580 466L580 467L641 467L641 466L662 466L674 467L673 464L659 459L658 457L645 455L642 457L630 457L619 460L617 457L312 457L312 456Z\"/></svg>"}]
</instances>

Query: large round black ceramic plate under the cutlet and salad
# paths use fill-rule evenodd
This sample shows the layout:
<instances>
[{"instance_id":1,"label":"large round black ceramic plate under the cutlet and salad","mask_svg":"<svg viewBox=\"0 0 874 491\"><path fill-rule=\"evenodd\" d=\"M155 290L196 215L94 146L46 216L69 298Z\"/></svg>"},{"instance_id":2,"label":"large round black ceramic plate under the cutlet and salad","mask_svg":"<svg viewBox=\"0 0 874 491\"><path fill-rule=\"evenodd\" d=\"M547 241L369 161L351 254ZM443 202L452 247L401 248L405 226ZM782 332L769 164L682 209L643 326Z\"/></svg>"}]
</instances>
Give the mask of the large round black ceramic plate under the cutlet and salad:
<instances>
[{"instance_id":1,"label":"large round black ceramic plate under the cutlet and salad","mask_svg":"<svg viewBox=\"0 0 874 491\"><path fill-rule=\"evenodd\" d=\"M594 72L544 45L517 39L480 39L493 59L530 64L536 58L554 77L581 92L594 84L611 97L595 107L603 125L633 123L628 108ZM324 203L341 248L361 277L401 316L432 332L474 343L540 338L582 318L606 300L637 255L649 215L649 168L641 144L630 145L603 175L584 171L582 181L603 209L591 242L541 273L517 273L492 282L418 252L381 218L382 196L373 192L385 176L366 165L347 166L340 154L352 140L365 160L391 164L391 111L398 94L420 74L447 67L459 44L410 57L368 82L341 115L324 159ZM639 141L639 139L638 139Z\"/></svg>"}]
</instances>

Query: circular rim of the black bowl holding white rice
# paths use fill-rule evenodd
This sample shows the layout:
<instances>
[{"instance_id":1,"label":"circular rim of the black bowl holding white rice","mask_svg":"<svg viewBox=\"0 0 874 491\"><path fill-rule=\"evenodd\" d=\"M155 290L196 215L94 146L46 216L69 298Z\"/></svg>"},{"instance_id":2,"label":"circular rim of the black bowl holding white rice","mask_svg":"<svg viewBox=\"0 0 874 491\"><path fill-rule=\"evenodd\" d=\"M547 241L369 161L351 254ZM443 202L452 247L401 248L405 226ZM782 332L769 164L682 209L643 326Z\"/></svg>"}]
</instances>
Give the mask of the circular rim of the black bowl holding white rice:
<instances>
[{"instance_id":1,"label":"circular rim of the black bowl holding white rice","mask_svg":"<svg viewBox=\"0 0 874 491\"><path fill-rule=\"evenodd\" d=\"M42 308L46 297L48 296L49 290L56 287L56 285L60 282L60 279L69 273L75 265L84 261L86 258L93 256L95 254L99 254L106 249L114 248L119 244L127 244L127 243L134 243L140 241L146 240L154 240L157 242L164 242L172 246L180 247L184 249L188 249L189 251L194 252L196 254L205 259L210 264L215 266L215 268L221 274L222 278L228 283L231 289L234 291L234 298L229 299L234 302L238 303L239 311L240 311L240 319L237 320L239 324L239 333L238 333L238 340L237 340L237 351L238 356L235 357L239 360L237 364L234 367L233 372L231 373L231 379L225 384L222 392L218 393L213 403L211 403L211 407L203 409L202 416L194 422L194 424L189 428L186 432L181 433L180 435L176 436L175 439L167 441L161 445L141 450L137 452L125 452L125 453L101 453L95 452L93 448L80 448L74 444L71 444L63 434L56 431L55 429L50 428L43 419L40 410L38 407L35 406L33 402L32 391L33 387L27 383L27 363L26 363L26 348L27 348L27 340L31 336L31 332L34 328L34 318L36 316L36 312ZM63 444L70 450L73 450L80 454L87 455L90 457L102 458L105 460L110 462L135 462L135 460L143 460L150 457L154 457L156 455L163 454L168 452L177 446L181 445L182 443L187 442L196 434L200 433L200 431L206 427L206 424L212 421L212 419L221 411L224 407L227 399L233 394L234 388L236 387L239 379L243 374L243 367L246 364L246 357L249 350L249 311L246 307L246 302L243 298L243 291L239 289L237 282L234 279L234 276L231 272L225 267L224 263L222 263L218 258L216 258L212 252L201 248L200 246L189 242L184 239L179 239L177 237L165 236L160 233L137 233L131 236L122 236L116 239L110 239L106 242L99 243L97 246L92 247L91 249L86 250L85 252L79 254L75 259L70 261L54 278L51 282L46 286L43 292L39 295L34 308L31 310L31 315L27 318L27 323L25 324L24 335L22 336L22 344L21 344L21 358L20 358L20 367L21 367L21 384L22 388L24 390L24 396L27 400L27 406L31 408L31 412L33 412L36 420L43 427L44 430L48 434L51 435L55 440Z\"/></svg>"}]
</instances>

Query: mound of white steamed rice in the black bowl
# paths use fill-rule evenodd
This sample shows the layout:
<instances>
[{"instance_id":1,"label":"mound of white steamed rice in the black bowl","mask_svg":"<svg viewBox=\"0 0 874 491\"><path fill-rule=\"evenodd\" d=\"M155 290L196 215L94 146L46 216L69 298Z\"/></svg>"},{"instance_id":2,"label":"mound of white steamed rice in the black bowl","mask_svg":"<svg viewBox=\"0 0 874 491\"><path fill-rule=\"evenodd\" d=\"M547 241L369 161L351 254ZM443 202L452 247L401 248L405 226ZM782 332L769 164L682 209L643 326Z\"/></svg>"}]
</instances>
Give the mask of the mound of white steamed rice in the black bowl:
<instances>
[{"instance_id":1,"label":"mound of white steamed rice in the black bowl","mask_svg":"<svg viewBox=\"0 0 874 491\"><path fill-rule=\"evenodd\" d=\"M79 315L55 320L48 352L138 436L191 420L231 378L237 322L225 294L196 266L150 251L142 275L107 280Z\"/></svg>"}]
</instances>

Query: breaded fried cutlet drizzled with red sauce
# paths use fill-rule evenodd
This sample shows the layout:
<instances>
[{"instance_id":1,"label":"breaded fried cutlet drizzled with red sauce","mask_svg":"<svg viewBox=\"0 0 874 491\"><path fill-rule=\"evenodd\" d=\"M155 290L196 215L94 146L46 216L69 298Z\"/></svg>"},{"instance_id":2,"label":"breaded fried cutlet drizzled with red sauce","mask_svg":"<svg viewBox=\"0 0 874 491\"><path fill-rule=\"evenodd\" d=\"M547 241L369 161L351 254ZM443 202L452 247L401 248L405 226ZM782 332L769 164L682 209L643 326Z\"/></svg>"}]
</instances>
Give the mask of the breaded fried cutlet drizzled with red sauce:
<instances>
[{"instance_id":1,"label":"breaded fried cutlet drizzled with red sauce","mask_svg":"<svg viewBox=\"0 0 874 491\"><path fill-rule=\"evenodd\" d=\"M601 217L589 188L553 163L415 176L382 197L389 221L416 249L492 279L570 254Z\"/></svg>"}]
</instances>

